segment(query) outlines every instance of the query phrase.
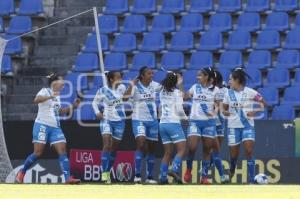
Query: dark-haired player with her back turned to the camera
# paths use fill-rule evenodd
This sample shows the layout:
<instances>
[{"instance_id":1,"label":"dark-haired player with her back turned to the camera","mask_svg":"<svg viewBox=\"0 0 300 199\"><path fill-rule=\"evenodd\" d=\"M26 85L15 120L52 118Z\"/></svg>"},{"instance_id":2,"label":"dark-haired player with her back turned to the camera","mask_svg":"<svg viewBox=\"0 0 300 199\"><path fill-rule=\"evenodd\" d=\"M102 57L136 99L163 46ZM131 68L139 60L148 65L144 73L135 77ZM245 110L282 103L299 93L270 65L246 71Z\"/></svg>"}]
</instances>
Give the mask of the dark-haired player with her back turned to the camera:
<instances>
[{"instance_id":1,"label":"dark-haired player with her back turned to the camera","mask_svg":"<svg viewBox=\"0 0 300 199\"><path fill-rule=\"evenodd\" d=\"M183 110L183 93L176 88L177 80L177 74L169 72L161 83L162 113L159 133L164 146L164 156L160 165L161 184L168 184L167 175L174 177L177 183L182 184L179 171L185 154L186 138L180 119L187 119L187 116ZM177 153L172 162L172 170L168 172L169 163L172 160L173 145L175 145Z\"/></svg>"}]
</instances>

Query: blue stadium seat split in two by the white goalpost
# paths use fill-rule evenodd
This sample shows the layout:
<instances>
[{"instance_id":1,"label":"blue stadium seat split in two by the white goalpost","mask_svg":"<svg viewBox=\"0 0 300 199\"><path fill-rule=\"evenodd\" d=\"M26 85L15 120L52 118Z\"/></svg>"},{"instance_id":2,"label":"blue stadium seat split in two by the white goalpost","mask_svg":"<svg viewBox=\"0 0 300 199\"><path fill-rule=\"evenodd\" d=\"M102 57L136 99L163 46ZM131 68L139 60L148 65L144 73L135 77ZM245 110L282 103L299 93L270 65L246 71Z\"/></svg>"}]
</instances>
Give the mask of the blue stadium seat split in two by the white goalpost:
<instances>
[{"instance_id":1,"label":"blue stadium seat split in two by the white goalpost","mask_svg":"<svg viewBox=\"0 0 300 199\"><path fill-rule=\"evenodd\" d=\"M107 35L101 34L100 38L101 38L102 50L103 51L109 50L109 41ZM95 33L88 35L84 44L83 52L98 53L97 36Z\"/></svg>"}]
</instances>

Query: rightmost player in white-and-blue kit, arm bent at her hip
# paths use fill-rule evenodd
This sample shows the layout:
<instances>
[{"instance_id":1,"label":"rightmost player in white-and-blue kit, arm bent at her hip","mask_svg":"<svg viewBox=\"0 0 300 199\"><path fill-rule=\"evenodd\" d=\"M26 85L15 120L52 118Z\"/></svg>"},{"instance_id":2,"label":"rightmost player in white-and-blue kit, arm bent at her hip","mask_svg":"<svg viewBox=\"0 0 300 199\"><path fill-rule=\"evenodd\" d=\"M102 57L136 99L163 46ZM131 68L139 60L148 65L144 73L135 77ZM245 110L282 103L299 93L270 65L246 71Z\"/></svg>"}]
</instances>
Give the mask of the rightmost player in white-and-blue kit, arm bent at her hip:
<instances>
[{"instance_id":1,"label":"rightmost player in white-and-blue kit, arm bent at her hip","mask_svg":"<svg viewBox=\"0 0 300 199\"><path fill-rule=\"evenodd\" d=\"M235 69L230 75L230 89L225 93L223 100L223 114L228 119L228 145L230 147L230 177L235 173L240 144L245 147L249 183L254 183L255 159L253 146L255 141L254 116L262 111L265 101L255 90L246 87L246 72ZM259 103L260 108L253 110L253 104Z\"/></svg>"}]
</instances>

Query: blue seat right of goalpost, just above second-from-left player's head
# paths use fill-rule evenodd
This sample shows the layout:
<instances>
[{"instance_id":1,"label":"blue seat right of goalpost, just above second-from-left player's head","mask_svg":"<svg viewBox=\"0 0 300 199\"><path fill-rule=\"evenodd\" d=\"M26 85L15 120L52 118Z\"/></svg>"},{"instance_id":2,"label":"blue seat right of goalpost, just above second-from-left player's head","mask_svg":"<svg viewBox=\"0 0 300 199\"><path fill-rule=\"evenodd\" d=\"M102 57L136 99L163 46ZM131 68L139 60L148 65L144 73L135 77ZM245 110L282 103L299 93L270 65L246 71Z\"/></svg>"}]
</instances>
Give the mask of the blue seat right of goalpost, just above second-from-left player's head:
<instances>
[{"instance_id":1,"label":"blue seat right of goalpost, just above second-from-left player's head","mask_svg":"<svg viewBox=\"0 0 300 199\"><path fill-rule=\"evenodd\" d=\"M127 57L124 53L111 53L104 58L105 70L124 70L127 68Z\"/></svg>"}]
</instances>

